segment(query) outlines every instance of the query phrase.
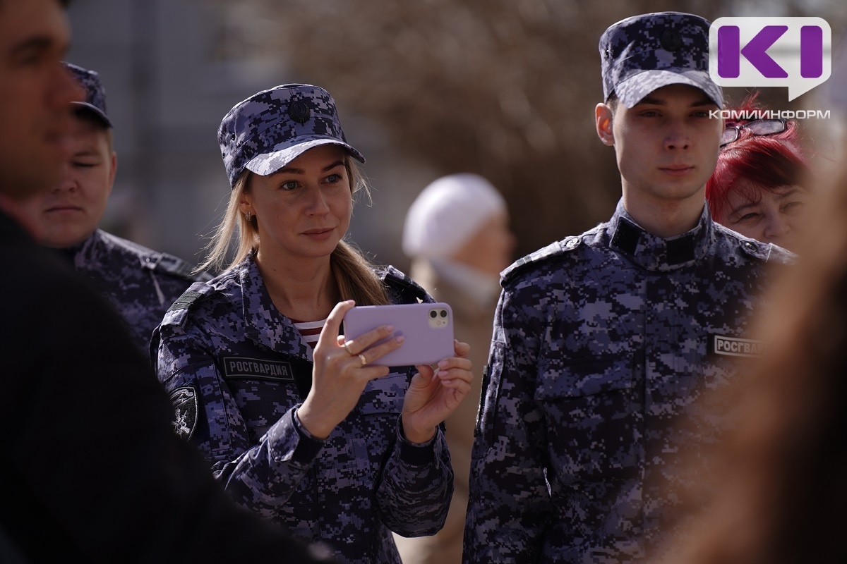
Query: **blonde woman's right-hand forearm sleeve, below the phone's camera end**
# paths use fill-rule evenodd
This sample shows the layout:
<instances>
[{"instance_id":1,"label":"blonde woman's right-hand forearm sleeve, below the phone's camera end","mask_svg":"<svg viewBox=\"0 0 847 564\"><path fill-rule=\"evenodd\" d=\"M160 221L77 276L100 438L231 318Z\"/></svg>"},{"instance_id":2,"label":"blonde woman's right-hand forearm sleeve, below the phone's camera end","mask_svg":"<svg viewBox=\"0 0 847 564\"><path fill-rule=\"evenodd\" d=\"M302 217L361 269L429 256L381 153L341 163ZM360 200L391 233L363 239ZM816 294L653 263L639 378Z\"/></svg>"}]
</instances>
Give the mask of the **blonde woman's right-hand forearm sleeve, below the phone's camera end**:
<instances>
[{"instance_id":1,"label":"blonde woman's right-hand forearm sleeve, below the phone's camera end","mask_svg":"<svg viewBox=\"0 0 847 564\"><path fill-rule=\"evenodd\" d=\"M439 427L435 437L416 445L402 436L396 442L377 486L377 503L385 525L404 537L435 534L447 518L453 495L450 453Z\"/></svg>"}]
</instances>

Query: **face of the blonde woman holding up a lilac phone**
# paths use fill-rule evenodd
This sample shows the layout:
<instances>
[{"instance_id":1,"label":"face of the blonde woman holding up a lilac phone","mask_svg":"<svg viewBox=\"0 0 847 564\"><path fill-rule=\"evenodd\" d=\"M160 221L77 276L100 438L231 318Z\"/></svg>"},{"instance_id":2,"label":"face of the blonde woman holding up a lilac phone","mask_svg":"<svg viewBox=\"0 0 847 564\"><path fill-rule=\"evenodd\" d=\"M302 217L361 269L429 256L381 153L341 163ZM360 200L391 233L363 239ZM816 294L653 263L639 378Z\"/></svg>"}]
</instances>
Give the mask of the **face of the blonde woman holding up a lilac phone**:
<instances>
[{"instance_id":1,"label":"face of the blonde woman holding up a lilac phone","mask_svg":"<svg viewBox=\"0 0 847 564\"><path fill-rule=\"evenodd\" d=\"M279 260L329 257L350 226L346 151L318 145L268 176L253 174L241 213L256 216L259 255Z\"/></svg>"}]
</instances>

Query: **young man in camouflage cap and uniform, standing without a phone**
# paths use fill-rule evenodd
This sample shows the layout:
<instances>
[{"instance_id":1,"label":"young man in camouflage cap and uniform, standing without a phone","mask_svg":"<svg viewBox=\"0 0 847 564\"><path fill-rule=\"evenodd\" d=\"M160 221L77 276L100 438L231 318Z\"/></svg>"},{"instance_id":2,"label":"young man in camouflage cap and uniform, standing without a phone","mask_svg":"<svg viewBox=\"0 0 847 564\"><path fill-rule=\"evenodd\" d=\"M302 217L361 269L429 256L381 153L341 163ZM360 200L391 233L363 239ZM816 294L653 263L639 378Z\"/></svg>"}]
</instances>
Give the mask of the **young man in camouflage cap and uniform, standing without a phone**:
<instances>
[{"instance_id":1,"label":"young man in camouflage cap and uniform, standing without a phone","mask_svg":"<svg viewBox=\"0 0 847 564\"><path fill-rule=\"evenodd\" d=\"M724 424L719 410L689 407L759 351L743 339L765 267L791 256L711 221L704 193L723 124L710 112L723 99L708 36L706 19L676 12L601 36L595 125L623 197L610 221L503 273L466 562L649 561L695 479L679 470L680 448Z\"/></svg>"}]
</instances>

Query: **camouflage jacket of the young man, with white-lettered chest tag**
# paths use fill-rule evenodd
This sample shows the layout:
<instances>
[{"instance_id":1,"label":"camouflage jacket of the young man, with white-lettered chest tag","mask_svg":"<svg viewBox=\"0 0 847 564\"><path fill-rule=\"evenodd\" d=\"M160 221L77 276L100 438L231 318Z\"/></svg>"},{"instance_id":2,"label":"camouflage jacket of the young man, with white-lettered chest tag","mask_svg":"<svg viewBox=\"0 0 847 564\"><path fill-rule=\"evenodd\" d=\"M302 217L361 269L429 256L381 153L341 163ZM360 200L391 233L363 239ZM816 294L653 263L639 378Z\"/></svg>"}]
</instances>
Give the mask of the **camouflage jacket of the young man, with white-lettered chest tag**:
<instances>
[{"instance_id":1,"label":"camouflage jacket of the young man, with white-lettered chest tag","mask_svg":"<svg viewBox=\"0 0 847 564\"><path fill-rule=\"evenodd\" d=\"M710 343L749 337L766 264L792 257L707 206L689 233L657 238L622 201L610 222L504 271L464 561L649 558L697 479L682 474L684 447L700 452L723 426L700 400L739 357Z\"/></svg>"}]
</instances>

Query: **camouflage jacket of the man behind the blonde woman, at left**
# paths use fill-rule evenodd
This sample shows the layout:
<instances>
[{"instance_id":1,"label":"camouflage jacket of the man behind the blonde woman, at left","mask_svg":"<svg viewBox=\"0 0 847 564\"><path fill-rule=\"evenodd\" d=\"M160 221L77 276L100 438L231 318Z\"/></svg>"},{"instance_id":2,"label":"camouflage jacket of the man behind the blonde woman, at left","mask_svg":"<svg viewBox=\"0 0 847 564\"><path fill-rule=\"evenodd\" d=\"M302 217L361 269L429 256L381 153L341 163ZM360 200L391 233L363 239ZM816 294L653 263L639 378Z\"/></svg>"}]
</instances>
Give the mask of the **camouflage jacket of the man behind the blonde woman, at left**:
<instances>
[{"instance_id":1,"label":"camouflage jacket of the man behind the blonde woman, at left","mask_svg":"<svg viewBox=\"0 0 847 564\"><path fill-rule=\"evenodd\" d=\"M144 356L153 329L176 298L207 274L191 275L191 265L97 229L73 255L74 269L91 279L125 320Z\"/></svg>"}]
</instances>

